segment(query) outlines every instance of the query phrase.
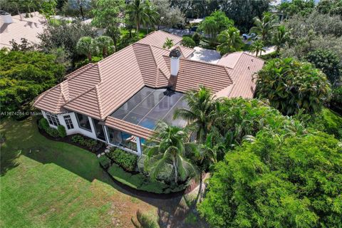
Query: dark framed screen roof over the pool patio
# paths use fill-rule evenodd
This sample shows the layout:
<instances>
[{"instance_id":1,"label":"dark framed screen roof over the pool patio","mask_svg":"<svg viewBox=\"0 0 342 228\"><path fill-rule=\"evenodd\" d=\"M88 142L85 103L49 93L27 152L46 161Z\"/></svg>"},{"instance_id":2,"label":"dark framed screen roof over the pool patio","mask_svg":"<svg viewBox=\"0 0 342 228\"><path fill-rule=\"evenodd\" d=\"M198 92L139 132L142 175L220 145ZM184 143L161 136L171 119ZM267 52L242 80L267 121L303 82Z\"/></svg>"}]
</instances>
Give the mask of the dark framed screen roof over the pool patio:
<instances>
[{"instance_id":1,"label":"dark framed screen roof over the pool patio","mask_svg":"<svg viewBox=\"0 0 342 228\"><path fill-rule=\"evenodd\" d=\"M186 124L185 120L173 120L177 108L188 107L187 102L182 99L183 95L167 88L144 87L111 116L151 130L155 130L160 120L183 127Z\"/></svg>"}]
</instances>

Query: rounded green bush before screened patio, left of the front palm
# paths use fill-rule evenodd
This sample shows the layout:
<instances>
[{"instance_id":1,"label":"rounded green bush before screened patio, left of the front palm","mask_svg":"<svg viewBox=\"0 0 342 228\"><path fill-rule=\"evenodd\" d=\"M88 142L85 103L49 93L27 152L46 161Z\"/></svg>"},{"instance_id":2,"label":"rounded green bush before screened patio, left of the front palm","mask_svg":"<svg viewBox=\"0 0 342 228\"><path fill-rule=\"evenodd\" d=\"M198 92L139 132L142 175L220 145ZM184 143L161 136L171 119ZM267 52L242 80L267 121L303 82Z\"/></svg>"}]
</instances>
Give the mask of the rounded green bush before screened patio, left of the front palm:
<instances>
[{"instance_id":1,"label":"rounded green bush before screened patio, left of the front palm","mask_svg":"<svg viewBox=\"0 0 342 228\"><path fill-rule=\"evenodd\" d=\"M123 167L124 170L129 172L133 172L135 167L137 167L138 156L130 152L113 147L110 149L108 156L120 165L120 167Z\"/></svg>"}]
</instances>

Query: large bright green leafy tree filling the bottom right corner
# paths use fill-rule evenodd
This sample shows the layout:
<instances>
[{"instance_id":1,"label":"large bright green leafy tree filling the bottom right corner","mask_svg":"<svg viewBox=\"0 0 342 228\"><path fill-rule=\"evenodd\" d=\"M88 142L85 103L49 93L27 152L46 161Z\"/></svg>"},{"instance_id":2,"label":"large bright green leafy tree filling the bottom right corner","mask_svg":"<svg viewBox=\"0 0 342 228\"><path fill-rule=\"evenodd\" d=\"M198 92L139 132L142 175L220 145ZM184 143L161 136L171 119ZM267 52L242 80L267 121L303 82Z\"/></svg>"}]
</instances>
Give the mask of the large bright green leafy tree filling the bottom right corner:
<instances>
[{"instance_id":1,"label":"large bright green leafy tree filling the bottom right corner","mask_svg":"<svg viewBox=\"0 0 342 228\"><path fill-rule=\"evenodd\" d=\"M259 133L216 165L199 212L212 227L338 227L341 162L331 135Z\"/></svg>"}]
</instances>

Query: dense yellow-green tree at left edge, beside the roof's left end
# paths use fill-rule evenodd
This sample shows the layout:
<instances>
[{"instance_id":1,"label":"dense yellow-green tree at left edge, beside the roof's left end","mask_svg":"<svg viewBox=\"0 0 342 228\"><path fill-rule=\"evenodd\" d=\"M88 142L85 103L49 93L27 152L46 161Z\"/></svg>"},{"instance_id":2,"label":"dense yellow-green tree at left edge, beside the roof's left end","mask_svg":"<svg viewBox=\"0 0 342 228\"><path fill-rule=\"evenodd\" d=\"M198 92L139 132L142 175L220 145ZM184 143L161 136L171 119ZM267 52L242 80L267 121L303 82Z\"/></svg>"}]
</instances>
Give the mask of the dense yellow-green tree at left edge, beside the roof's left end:
<instances>
[{"instance_id":1,"label":"dense yellow-green tree at left edge, beside the roof's left end","mask_svg":"<svg viewBox=\"0 0 342 228\"><path fill-rule=\"evenodd\" d=\"M16 112L65 73L56 56L38 51L0 51L1 112Z\"/></svg>"}]
</instances>

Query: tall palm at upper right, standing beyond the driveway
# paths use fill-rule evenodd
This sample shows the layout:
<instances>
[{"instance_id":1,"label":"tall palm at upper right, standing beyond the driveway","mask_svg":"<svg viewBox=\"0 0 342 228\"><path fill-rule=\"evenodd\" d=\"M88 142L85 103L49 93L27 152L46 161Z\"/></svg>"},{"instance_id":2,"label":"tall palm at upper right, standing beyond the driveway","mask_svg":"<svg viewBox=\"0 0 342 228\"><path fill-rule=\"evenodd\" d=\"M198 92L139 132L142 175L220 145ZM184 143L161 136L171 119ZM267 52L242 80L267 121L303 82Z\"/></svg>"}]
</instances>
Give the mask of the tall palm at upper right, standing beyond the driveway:
<instances>
[{"instance_id":1,"label":"tall palm at upper right, standing beyond the driveway","mask_svg":"<svg viewBox=\"0 0 342 228\"><path fill-rule=\"evenodd\" d=\"M261 19L255 17L254 27L251 28L251 33L257 33L261 41L268 41L271 36L271 31L276 27L276 16L270 12L265 12Z\"/></svg>"}]
</instances>

